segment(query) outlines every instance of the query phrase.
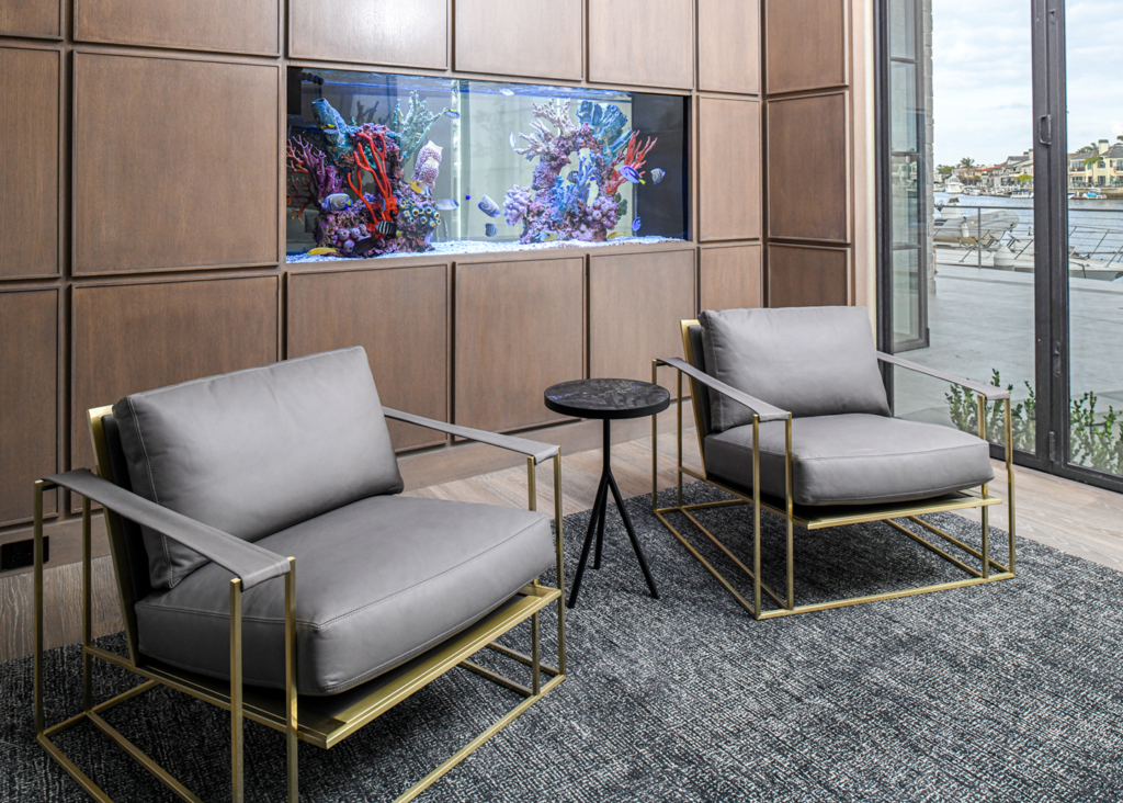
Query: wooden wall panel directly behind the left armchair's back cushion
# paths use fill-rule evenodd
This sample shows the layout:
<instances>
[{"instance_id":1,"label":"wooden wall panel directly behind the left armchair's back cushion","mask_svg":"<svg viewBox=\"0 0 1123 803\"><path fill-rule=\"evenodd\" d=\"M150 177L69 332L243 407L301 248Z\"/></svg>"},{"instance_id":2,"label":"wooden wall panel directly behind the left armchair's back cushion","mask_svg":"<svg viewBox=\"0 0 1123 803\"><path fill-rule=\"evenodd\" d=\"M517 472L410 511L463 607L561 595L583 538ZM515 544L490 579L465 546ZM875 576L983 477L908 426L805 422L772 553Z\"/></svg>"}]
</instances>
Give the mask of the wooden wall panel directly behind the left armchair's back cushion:
<instances>
[{"instance_id":1,"label":"wooden wall panel directly behind the left armchair's back cushion","mask_svg":"<svg viewBox=\"0 0 1123 803\"><path fill-rule=\"evenodd\" d=\"M76 286L71 466L93 465L86 410L277 361L276 276Z\"/></svg>"}]
</instances>

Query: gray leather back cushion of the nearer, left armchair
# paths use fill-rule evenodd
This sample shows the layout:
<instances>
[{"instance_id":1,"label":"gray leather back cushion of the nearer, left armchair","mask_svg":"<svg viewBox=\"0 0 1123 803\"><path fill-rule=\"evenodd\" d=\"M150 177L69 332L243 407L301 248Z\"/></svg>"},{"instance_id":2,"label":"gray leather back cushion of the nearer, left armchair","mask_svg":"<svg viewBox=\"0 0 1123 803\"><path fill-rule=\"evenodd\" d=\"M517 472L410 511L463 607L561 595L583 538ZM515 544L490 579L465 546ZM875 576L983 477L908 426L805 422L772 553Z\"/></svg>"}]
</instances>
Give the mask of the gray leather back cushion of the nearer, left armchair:
<instances>
[{"instance_id":1,"label":"gray leather back cushion of the nearer, left armchair","mask_svg":"<svg viewBox=\"0 0 1123 803\"><path fill-rule=\"evenodd\" d=\"M135 493L247 541L402 490L360 347L135 393L113 416ZM144 540L155 588L207 563Z\"/></svg>"}]
</instances>

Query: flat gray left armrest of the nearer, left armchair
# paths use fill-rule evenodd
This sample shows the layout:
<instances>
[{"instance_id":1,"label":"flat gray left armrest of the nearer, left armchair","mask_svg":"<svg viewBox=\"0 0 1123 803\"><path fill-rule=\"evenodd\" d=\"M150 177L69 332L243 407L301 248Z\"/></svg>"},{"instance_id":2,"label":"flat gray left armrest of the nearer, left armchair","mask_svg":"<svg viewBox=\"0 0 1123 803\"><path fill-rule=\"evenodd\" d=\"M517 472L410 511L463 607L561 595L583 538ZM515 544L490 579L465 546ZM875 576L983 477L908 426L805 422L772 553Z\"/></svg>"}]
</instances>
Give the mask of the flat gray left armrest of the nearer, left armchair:
<instances>
[{"instance_id":1,"label":"flat gray left armrest of the nearer, left armchair","mask_svg":"<svg viewBox=\"0 0 1123 803\"><path fill-rule=\"evenodd\" d=\"M232 572L241 580L245 588L289 573L287 558L149 502L86 468L54 474L44 477L44 481L91 499L129 521L148 527L195 550Z\"/></svg>"}]
</instances>

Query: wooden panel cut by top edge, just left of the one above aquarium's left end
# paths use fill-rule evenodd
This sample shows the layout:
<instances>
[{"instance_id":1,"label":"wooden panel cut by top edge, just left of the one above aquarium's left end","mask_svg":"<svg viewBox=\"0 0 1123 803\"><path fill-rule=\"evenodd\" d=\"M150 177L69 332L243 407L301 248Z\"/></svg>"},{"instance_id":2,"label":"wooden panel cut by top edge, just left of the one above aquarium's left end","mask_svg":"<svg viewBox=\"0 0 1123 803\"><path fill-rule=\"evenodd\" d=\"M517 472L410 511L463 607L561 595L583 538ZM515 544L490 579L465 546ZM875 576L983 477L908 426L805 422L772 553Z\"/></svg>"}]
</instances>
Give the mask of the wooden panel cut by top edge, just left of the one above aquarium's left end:
<instances>
[{"instance_id":1,"label":"wooden panel cut by top edge, just left of the one above aquarium's left end","mask_svg":"<svg viewBox=\"0 0 1123 803\"><path fill-rule=\"evenodd\" d=\"M74 39L275 56L280 13L277 0L74 0Z\"/></svg>"}]
</instances>

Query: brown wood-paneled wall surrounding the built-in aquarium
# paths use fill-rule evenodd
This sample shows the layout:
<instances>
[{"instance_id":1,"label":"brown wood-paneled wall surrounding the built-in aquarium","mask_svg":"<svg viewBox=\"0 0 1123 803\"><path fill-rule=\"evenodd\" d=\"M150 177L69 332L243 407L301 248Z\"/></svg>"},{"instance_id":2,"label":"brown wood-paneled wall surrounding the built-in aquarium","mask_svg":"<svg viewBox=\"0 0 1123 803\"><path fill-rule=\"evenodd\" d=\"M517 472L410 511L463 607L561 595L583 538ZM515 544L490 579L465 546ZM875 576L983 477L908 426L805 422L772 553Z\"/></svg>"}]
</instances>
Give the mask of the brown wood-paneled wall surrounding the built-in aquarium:
<instances>
[{"instance_id":1,"label":"brown wood-paneled wall surrounding the built-in aquarium","mask_svg":"<svg viewBox=\"0 0 1123 803\"><path fill-rule=\"evenodd\" d=\"M784 288L805 303L864 298L861 9L848 0L0 3L0 539L26 529L33 477L91 464L85 409L133 391L358 343L387 404L489 425L474 418L483 410L496 427L523 429L544 423L531 414L555 377L544 371L647 377L651 357L681 353L673 322L701 308L765 304L769 293L791 302ZM758 38L769 44L767 70ZM685 183L668 162L659 186L682 188L686 238L612 254L578 244L546 256L286 264L290 67L677 99ZM812 115L806 130L788 122L800 115L761 113L782 103L833 103L847 115ZM670 145L659 116L645 113L633 100L632 126ZM776 156L803 172L769 171L763 186ZM828 162L857 177L821 182ZM779 193L794 211L768 220ZM839 210L851 210L842 235ZM656 226L659 213L640 217ZM785 228L806 220L810 229ZM783 258L773 258L773 240ZM789 281L769 282L769 271ZM476 302L459 293L469 276L473 298L496 305L475 322L464 313ZM515 304L519 314L506 314ZM597 445L584 425L545 423L536 437L567 451ZM412 483L497 465L420 429L394 438L408 450L437 447L403 459ZM64 498L47 502L60 523L73 510ZM63 556L67 527L57 531Z\"/></svg>"}]
</instances>

